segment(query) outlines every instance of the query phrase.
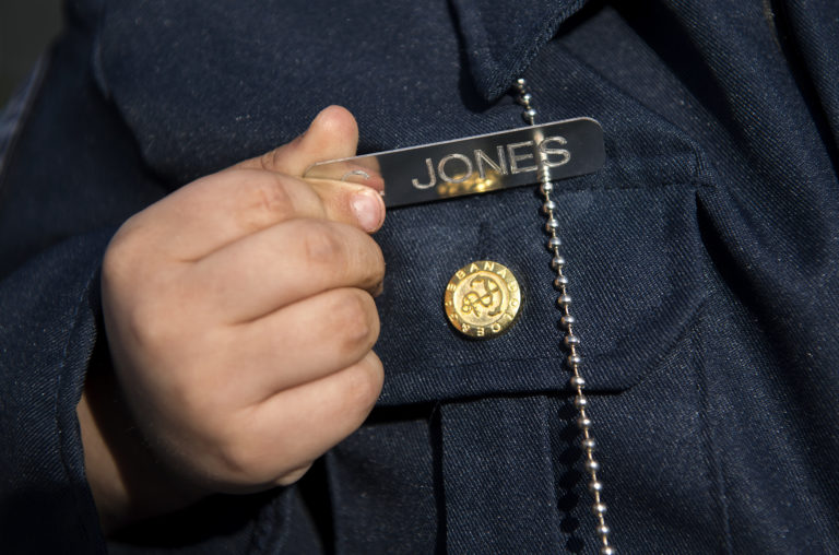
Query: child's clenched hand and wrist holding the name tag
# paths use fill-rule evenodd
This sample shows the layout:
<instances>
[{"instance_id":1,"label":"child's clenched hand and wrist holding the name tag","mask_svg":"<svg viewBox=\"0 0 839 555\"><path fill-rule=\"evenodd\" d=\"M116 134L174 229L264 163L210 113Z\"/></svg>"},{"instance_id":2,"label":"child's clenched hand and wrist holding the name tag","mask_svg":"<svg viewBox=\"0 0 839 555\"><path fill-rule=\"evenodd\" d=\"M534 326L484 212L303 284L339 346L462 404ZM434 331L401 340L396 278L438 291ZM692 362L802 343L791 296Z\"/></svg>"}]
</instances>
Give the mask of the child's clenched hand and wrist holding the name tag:
<instances>
[{"instance_id":1,"label":"child's clenched hand and wrist holding the name tag","mask_svg":"<svg viewBox=\"0 0 839 555\"><path fill-rule=\"evenodd\" d=\"M102 275L108 345L150 457L103 432L88 380L79 415L105 522L156 511L143 482L187 484L172 507L289 484L371 410L383 376L371 295L385 263L367 234L385 204L369 188L300 178L352 156L356 141L353 117L327 108L302 138L179 189L114 237Z\"/></svg>"}]
</instances>

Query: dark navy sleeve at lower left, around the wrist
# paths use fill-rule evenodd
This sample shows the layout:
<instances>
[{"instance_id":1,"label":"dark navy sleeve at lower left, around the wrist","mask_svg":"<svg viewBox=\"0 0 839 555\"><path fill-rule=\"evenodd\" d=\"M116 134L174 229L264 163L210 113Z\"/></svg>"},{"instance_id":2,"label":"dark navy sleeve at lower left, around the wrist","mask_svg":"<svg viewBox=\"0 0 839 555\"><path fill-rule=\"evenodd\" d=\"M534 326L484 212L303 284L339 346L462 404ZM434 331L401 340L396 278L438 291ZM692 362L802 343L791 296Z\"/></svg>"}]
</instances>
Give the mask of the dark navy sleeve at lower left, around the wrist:
<instances>
[{"instance_id":1,"label":"dark navy sleeve at lower left, around the wrist","mask_svg":"<svg viewBox=\"0 0 839 555\"><path fill-rule=\"evenodd\" d=\"M104 553L75 408L99 330L109 233L0 282L0 538L8 553Z\"/></svg>"}]
</instances>

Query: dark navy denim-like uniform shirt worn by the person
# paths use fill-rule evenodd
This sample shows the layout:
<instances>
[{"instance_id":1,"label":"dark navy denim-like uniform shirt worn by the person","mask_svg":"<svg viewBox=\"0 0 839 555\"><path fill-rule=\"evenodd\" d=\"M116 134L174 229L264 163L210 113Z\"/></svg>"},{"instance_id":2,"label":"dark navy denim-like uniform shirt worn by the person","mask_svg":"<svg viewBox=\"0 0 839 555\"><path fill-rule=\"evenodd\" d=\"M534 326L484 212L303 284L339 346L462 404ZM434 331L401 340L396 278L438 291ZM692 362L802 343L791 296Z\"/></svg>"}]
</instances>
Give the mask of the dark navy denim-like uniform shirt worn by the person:
<instances>
[{"instance_id":1,"label":"dark navy denim-like uniform shirt worn by the person","mask_svg":"<svg viewBox=\"0 0 839 555\"><path fill-rule=\"evenodd\" d=\"M540 121L605 134L605 167L555 200L616 547L836 552L838 16L829 0L70 2L0 182L0 503L25 509L0 541L49 527L63 552L105 548L74 406L114 226L329 104L356 116L361 152L520 126L522 75ZM369 422L299 486L109 550L596 552L539 209L523 188L391 211ZM442 311L478 259L524 292L485 342Z\"/></svg>"}]
</instances>

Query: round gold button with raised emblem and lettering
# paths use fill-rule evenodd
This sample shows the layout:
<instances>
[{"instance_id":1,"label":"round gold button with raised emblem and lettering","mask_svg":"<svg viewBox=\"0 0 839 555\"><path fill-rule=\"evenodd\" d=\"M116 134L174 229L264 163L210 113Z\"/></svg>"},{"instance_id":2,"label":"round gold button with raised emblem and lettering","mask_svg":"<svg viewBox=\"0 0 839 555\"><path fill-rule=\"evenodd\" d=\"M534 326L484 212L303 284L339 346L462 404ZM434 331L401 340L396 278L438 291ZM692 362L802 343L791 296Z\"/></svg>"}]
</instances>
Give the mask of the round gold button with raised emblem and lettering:
<instances>
[{"instance_id":1,"label":"round gold button with raised emblem and lettering","mask_svg":"<svg viewBox=\"0 0 839 555\"><path fill-rule=\"evenodd\" d=\"M442 305L459 332L488 339L516 321L521 308L521 287L506 265L478 260L454 272L446 285Z\"/></svg>"}]
</instances>

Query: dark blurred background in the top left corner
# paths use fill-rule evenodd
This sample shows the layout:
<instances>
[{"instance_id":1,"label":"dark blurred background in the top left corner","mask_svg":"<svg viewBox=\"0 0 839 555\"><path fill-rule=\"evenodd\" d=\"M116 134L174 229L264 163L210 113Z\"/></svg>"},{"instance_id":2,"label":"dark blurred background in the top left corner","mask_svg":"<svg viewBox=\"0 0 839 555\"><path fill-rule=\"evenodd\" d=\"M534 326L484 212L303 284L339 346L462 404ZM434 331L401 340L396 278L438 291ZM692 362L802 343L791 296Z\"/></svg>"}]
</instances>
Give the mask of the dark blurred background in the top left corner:
<instances>
[{"instance_id":1,"label":"dark blurred background in the top left corner","mask_svg":"<svg viewBox=\"0 0 839 555\"><path fill-rule=\"evenodd\" d=\"M0 0L0 106L5 105L60 27L60 0Z\"/></svg>"}]
</instances>

